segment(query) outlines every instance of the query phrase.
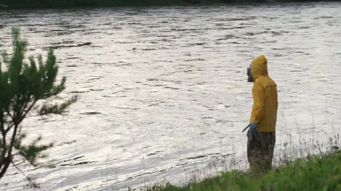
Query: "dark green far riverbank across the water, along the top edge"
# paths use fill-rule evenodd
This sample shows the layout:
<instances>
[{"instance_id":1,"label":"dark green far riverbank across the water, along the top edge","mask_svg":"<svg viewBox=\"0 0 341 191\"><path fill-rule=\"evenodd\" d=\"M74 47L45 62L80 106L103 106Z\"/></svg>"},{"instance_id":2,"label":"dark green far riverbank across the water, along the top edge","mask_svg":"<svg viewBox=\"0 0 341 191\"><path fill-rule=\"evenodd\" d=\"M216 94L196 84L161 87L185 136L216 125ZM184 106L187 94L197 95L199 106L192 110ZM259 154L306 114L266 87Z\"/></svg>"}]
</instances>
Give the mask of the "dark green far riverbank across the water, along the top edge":
<instances>
[{"instance_id":1,"label":"dark green far riverbank across the water, along the top edge","mask_svg":"<svg viewBox=\"0 0 341 191\"><path fill-rule=\"evenodd\" d=\"M120 7L213 5L217 3L293 2L318 0L0 0L0 8L67 8L67 7ZM333 0L324 0L333 1Z\"/></svg>"}]
</instances>

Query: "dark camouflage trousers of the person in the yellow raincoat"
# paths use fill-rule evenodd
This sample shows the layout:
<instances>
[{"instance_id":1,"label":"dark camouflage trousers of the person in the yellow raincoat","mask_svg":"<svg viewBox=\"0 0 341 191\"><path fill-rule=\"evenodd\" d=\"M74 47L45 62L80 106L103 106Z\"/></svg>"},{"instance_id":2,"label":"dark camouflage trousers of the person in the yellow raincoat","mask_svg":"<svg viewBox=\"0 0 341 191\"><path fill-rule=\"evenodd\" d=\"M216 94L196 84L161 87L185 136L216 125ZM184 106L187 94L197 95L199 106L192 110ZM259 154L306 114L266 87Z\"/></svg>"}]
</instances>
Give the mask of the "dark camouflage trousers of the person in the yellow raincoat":
<instances>
[{"instance_id":1,"label":"dark camouflage trousers of the person in the yellow raincoat","mask_svg":"<svg viewBox=\"0 0 341 191\"><path fill-rule=\"evenodd\" d=\"M258 132L259 142L247 131L247 160L251 171L267 171L271 169L276 141L275 132Z\"/></svg>"}]
</instances>

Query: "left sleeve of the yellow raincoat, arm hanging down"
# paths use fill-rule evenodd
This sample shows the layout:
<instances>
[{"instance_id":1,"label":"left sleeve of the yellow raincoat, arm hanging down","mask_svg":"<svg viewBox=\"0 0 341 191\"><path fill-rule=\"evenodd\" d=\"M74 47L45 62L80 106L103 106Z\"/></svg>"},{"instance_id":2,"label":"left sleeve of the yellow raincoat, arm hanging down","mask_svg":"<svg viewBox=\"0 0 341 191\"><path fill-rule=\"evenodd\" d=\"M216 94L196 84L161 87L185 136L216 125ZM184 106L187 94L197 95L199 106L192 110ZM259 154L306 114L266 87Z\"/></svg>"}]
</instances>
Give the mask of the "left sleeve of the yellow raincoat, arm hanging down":
<instances>
[{"instance_id":1,"label":"left sleeve of the yellow raincoat, arm hanging down","mask_svg":"<svg viewBox=\"0 0 341 191\"><path fill-rule=\"evenodd\" d=\"M251 116L251 121L259 123L264 115L264 104L265 104L265 91L261 83L255 82L252 88L253 97L253 114Z\"/></svg>"}]
</instances>

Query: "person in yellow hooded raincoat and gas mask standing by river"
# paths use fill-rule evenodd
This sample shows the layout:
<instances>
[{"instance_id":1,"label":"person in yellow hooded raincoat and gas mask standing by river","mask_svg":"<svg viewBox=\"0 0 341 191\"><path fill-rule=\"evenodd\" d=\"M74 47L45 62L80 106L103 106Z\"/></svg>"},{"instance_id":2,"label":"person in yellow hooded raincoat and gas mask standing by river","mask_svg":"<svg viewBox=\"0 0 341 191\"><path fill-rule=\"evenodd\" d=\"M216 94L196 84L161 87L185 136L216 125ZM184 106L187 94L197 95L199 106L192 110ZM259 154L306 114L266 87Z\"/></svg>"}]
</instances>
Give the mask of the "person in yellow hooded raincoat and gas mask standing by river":
<instances>
[{"instance_id":1,"label":"person in yellow hooded raincoat and gas mask standing by river","mask_svg":"<svg viewBox=\"0 0 341 191\"><path fill-rule=\"evenodd\" d=\"M247 132L247 159L252 171L271 169L276 141L277 85L268 75L267 60L259 56L247 68L253 82L253 106Z\"/></svg>"}]
</instances>

